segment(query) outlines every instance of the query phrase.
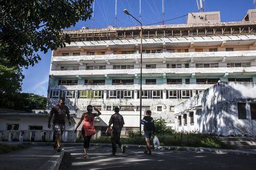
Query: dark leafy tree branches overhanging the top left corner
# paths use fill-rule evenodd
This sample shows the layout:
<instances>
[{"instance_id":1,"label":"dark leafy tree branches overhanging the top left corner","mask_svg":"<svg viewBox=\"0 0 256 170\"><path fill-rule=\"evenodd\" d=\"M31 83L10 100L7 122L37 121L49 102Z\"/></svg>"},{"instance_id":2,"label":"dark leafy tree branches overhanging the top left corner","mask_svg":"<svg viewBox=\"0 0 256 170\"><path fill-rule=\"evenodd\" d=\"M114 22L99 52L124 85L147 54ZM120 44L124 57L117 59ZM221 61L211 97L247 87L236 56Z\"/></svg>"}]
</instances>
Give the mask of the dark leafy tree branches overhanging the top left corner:
<instances>
[{"instance_id":1,"label":"dark leafy tree branches overhanging the top left corner","mask_svg":"<svg viewBox=\"0 0 256 170\"><path fill-rule=\"evenodd\" d=\"M93 0L0 0L0 57L28 67L47 52L70 43L62 30L91 17Z\"/></svg>"}]
</instances>

